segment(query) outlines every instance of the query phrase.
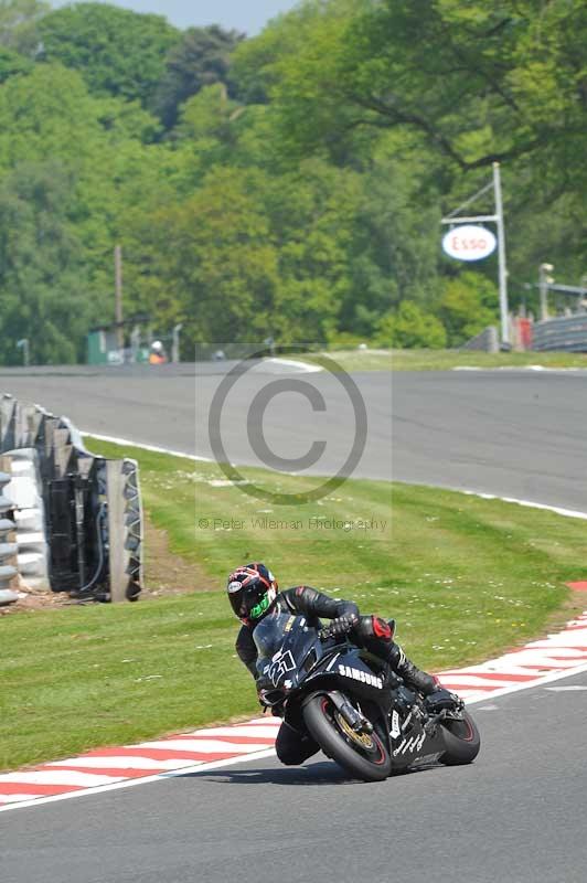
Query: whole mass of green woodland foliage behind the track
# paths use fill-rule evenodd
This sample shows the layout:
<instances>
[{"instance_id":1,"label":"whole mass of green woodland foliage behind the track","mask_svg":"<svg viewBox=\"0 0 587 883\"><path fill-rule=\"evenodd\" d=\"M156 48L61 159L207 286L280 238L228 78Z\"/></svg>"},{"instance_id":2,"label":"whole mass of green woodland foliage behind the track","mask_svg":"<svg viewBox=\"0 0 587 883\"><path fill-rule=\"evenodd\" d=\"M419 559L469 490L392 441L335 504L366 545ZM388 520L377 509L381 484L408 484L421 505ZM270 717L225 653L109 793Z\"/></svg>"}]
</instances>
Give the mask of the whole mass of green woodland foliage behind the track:
<instances>
[{"instance_id":1,"label":"whole mass of green woodland foliage behind the track","mask_svg":"<svg viewBox=\"0 0 587 883\"><path fill-rule=\"evenodd\" d=\"M110 320L117 243L127 316L183 322L185 355L269 334L458 345L495 322L495 262L449 264L439 221L495 159L510 301L533 308L542 262L559 281L585 273L586 45L580 0L306 0L252 40L0 0L0 236L12 244L22 221L32 242L47 223L24 167L46 193L58 168L66 195L53 235L67 248L46 278L31 267L38 315L58 329L42 358L74 358ZM492 212L491 195L473 210ZM24 260L7 260L10 361L33 325L13 294ZM70 315L72 275L87 304Z\"/></svg>"}]
</instances>

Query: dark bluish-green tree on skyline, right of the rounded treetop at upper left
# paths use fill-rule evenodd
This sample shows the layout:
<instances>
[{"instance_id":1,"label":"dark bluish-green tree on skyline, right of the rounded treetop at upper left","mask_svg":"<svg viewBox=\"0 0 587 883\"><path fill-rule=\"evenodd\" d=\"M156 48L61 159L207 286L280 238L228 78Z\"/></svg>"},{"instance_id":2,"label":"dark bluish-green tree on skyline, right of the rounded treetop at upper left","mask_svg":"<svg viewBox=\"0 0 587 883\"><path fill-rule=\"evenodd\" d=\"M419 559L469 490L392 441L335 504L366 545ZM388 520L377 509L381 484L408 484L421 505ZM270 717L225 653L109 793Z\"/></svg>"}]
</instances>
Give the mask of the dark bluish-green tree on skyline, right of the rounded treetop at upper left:
<instances>
[{"instance_id":1,"label":"dark bluish-green tree on skyline, right of the rounded treetop at upper left","mask_svg":"<svg viewBox=\"0 0 587 883\"><path fill-rule=\"evenodd\" d=\"M185 31L169 52L154 102L167 129L173 128L188 98L205 86L227 83L232 53L243 39L244 34L216 24Z\"/></svg>"}]
</instances>

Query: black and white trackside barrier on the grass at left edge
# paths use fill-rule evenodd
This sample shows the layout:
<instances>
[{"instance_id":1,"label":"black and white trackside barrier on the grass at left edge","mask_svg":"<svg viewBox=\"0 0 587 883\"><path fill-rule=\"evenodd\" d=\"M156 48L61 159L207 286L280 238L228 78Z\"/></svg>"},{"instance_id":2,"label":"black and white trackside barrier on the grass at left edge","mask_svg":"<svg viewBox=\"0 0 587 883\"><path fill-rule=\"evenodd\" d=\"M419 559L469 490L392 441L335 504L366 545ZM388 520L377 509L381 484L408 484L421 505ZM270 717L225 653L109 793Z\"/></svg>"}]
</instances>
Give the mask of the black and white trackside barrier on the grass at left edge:
<instances>
[{"instance_id":1,"label":"black and white trackside barrier on the grass at left edge","mask_svg":"<svg viewBox=\"0 0 587 883\"><path fill-rule=\"evenodd\" d=\"M94 456L70 421L9 395L0 398L0 456L10 466L6 487L24 583L96 600L137 599L137 462Z\"/></svg>"}]
</instances>

